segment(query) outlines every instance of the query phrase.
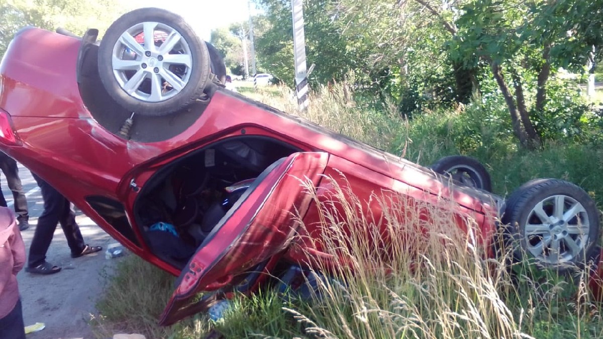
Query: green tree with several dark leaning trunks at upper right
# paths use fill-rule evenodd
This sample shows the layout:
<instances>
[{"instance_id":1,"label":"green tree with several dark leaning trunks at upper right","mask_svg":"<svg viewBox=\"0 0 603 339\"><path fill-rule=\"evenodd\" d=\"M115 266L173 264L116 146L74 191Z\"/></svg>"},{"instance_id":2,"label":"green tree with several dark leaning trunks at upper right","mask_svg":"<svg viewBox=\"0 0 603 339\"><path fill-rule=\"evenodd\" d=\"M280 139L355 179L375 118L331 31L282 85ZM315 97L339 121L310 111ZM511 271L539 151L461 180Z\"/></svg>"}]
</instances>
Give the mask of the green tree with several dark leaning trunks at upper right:
<instances>
[{"instance_id":1,"label":"green tree with several dark leaning trunks at upper right","mask_svg":"<svg viewBox=\"0 0 603 339\"><path fill-rule=\"evenodd\" d=\"M462 62L487 63L524 147L538 147L543 128L554 124L533 122L545 113L551 75L560 67L584 71L592 47L601 46L602 5L601 0L480 0L463 7L453 54Z\"/></svg>"}]
</instances>

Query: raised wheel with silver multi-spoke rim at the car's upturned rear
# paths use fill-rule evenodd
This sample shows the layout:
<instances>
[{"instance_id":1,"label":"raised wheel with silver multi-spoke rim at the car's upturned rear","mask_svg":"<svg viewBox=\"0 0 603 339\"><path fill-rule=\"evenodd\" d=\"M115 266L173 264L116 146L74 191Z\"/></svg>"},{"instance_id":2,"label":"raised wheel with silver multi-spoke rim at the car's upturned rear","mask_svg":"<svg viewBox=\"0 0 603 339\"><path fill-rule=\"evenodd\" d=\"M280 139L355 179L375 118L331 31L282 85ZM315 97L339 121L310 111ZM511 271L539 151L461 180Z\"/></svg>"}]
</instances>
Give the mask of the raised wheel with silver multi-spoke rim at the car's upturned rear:
<instances>
[{"instance_id":1,"label":"raised wheel with silver multi-spoke rim at the car's upturned rear","mask_svg":"<svg viewBox=\"0 0 603 339\"><path fill-rule=\"evenodd\" d=\"M144 39L145 28L153 30L153 40ZM206 44L182 17L160 8L140 8L119 17L107 30L99 46L98 72L119 105L138 115L162 116L200 97L209 82L210 57Z\"/></svg>"}]
</instances>

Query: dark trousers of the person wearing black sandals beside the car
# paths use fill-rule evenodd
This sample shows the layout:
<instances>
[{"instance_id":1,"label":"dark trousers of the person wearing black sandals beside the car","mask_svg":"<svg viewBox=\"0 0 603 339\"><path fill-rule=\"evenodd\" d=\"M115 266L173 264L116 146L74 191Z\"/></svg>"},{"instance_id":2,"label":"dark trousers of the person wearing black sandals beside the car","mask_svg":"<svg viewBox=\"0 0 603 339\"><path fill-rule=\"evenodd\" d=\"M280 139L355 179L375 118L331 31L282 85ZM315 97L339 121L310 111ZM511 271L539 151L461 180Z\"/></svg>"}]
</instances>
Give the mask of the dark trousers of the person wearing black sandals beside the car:
<instances>
[{"instance_id":1,"label":"dark trousers of the person wearing black sandals beside the car","mask_svg":"<svg viewBox=\"0 0 603 339\"><path fill-rule=\"evenodd\" d=\"M81 253L86 245L81 236L80 227L75 223L75 213L71 209L71 203L36 174L32 173L32 175L42 191L44 211L38 218L36 232L31 240L28 265L36 267L46 260L46 252L52 241L54 230L57 229L57 223L61 224L71 253Z\"/></svg>"}]
</instances>

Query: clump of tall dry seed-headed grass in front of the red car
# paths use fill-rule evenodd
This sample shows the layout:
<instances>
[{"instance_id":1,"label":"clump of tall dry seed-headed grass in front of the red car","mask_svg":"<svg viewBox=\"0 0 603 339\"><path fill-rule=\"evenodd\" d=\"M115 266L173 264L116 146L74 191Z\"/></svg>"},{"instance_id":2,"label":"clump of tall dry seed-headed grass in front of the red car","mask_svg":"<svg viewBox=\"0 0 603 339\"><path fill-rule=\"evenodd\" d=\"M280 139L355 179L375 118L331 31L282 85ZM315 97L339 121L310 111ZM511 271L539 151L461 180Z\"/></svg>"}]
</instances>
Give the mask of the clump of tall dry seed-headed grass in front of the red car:
<instances>
[{"instance_id":1,"label":"clump of tall dry seed-headed grass in front of the red car","mask_svg":"<svg viewBox=\"0 0 603 339\"><path fill-rule=\"evenodd\" d=\"M486 259L478 225L454 203L376 194L381 218L365 215L368 201L349 187L331 186L332 199L316 200L325 249L352 265L332 271L346 288L321 285L321 308L306 314L314 327L336 338L525 337L522 317L498 293L511 285L506 268Z\"/></svg>"}]
</instances>

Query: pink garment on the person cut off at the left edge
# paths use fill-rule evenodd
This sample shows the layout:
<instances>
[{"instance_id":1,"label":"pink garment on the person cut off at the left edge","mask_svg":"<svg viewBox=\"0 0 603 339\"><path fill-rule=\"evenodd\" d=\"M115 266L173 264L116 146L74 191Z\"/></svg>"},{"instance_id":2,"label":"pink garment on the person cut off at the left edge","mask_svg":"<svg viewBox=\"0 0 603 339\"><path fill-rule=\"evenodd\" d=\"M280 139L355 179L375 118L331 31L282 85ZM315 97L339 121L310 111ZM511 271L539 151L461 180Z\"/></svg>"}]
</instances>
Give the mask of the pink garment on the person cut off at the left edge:
<instances>
[{"instance_id":1,"label":"pink garment on the person cut off at the left edge","mask_svg":"<svg viewBox=\"0 0 603 339\"><path fill-rule=\"evenodd\" d=\"M17 305L17 273L24 264L25 244L13 211L0 207L0 319Z\"/></svg>"}]
</instances>

